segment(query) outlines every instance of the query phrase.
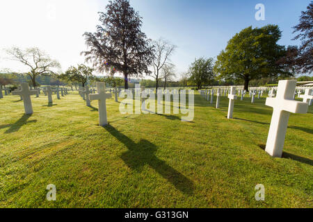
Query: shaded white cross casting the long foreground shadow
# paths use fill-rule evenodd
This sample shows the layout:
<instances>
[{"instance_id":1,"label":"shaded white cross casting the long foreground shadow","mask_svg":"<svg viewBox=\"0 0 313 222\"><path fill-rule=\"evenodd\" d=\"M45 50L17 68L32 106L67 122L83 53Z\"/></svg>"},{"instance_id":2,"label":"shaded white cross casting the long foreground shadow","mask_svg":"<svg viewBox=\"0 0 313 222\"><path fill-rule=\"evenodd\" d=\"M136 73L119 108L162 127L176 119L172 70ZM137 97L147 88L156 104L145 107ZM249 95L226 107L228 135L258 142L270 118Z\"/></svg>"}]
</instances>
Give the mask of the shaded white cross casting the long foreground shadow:
<instances>
[{"instance_id":1,"label":"shaded white cross casting the long foreground shadow","mask_svg":"<svg viewBox=\"0 0 313 222\"><path fill-rule=\"evenodd\" d=\"M106 126L108 124L106 118L106 99L112 97L111 93L106 93L106 83L96 83L97 94L89 94L90 100L97 100L99 103L99 125Z\"/></svg>"}]
</instances>

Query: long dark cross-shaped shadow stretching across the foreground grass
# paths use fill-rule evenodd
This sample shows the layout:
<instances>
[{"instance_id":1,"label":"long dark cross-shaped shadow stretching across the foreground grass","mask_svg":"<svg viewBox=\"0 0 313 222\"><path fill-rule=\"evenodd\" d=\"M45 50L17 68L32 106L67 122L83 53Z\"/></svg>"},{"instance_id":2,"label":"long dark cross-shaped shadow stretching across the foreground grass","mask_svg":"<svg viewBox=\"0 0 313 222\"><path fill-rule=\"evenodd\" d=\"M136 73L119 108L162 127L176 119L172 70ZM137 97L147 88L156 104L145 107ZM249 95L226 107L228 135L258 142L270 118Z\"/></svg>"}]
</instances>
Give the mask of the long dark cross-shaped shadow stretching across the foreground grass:
<instances>
[{"instance_id":1,"label":"long dark cross-shaped shadow stretching across the foreground grass","mask_svg":"<svg viewBox=\"0 0 313 222\"><path fill-rule=\"evenodd\" d=\"M160 160L155 155L157 152L156 145L146 139L141 139L141 141L136 144L134 141L129 139L129 137L120 133L110 125L104 126L104 129L127 146L128 151L122 153L121 158L129 168L140 171L143 166L148 164L163 178L179 189L179 191L188 195L193 194L193 182L186 178L186 176L182 175L182 173L179 173L177 170L170 167L165 161Z\"/></svg>"}]
</instances>

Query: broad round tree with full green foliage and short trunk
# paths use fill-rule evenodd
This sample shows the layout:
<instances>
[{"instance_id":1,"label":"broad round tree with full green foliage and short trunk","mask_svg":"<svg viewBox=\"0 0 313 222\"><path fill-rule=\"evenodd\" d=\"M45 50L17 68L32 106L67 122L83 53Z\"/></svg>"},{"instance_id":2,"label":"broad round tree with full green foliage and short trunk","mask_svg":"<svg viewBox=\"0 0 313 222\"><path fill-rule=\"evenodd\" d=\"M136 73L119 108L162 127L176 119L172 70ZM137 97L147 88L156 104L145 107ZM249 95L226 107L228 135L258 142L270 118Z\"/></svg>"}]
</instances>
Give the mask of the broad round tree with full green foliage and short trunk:
<instances>
[{"instance_id":1,"label":"broad round tree with full green foliage and short trunk","mask_svg":"<svg viewBox=\"0 0 313 222\"><path fill-rule=\"evenodd\" d=\"M293 76L289 67L278 62L286 55L284 46L277 44L281 31L278 26L244 28L227 43L214 67L218 78L238 82L271 76Z\"/></svg>"}]
</instances>

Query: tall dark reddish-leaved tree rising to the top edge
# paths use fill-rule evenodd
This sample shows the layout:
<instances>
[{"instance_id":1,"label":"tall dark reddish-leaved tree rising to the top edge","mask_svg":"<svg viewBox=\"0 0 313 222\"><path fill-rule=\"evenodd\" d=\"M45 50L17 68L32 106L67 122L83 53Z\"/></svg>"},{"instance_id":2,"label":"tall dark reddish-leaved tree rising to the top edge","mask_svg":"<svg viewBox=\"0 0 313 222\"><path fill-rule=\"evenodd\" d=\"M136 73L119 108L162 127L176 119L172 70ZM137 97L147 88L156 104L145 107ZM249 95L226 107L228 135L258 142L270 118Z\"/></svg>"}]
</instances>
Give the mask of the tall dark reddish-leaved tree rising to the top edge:
<instances>
[{"instance_id":1,"label":"tall dark reddish-leaved tree rising to the top edge","mask_svg":"<svg viewBox=\"0 0 313 222\"><path fill-rule=\"evenodd\" d=\"M99 12L95 33L85 33L89 51L81 52L86 61L92 61L97 71L114 70L125 78L128 89L129 76L150 74L152 47L141 32L141 17L128 0L109 1L106 12Z\"/></svg>"}]
</instances>

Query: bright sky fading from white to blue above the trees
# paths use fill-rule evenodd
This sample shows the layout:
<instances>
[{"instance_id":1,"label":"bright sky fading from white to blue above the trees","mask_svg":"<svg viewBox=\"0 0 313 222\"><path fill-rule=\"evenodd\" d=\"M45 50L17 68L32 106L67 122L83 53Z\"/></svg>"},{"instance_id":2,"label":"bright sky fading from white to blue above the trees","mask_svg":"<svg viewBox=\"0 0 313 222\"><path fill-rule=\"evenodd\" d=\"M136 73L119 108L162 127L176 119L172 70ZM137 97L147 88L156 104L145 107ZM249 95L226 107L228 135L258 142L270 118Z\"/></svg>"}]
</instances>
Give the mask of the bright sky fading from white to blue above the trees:
<instances>
[{"instance_id":1,"label":"bright sky fading from white to blue above the trees","mask_svg":"<svg viewBox=\"0 0 313 222\"><path fill-rule=\"evenodd\" d=\"M0 49L10 46L37 46L58 60L63 71L84 62L83 33L94 32L99 24L97 12L107 0L1 0ZM216 57L230 38L250 25L278 24L280 44L298 44L292 26L298 24L310 0L130 0L143 17L143 31L156 40L166 38L177 46L172 62L177 74L201 56ZM255 6L263 3L265 20L255 19ZM23 71L0 53L0 70Z\"/></svg>"}]
</instances>

